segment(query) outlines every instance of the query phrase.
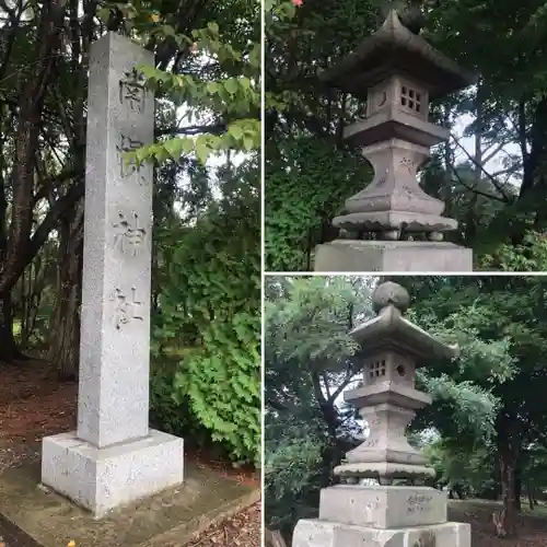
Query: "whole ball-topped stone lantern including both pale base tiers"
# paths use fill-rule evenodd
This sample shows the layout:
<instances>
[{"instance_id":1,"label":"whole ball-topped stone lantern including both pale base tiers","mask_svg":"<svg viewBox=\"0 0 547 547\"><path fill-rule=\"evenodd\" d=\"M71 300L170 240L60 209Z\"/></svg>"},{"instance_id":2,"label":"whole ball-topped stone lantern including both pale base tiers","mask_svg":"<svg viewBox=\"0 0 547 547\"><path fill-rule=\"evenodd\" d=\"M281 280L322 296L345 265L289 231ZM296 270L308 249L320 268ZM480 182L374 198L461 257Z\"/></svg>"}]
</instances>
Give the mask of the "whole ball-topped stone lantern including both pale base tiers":
<instances>
[{"instance_id":1,"label":"whole ball-topped stone lantern including both pale base tiers","mask_svg":"<svg viewBox=\"0 0 547 547\"><path fill-rule=\"evenodd\" d=\"M392 282L373 295L377 317L352 331L360 345L363 384L345 393L370 429L335 475L346 484L321 492L318 520L296 524L292 547L470 547L470 526L447 522L447 493L424 486L393 486L434 477L427 458L410 446L405 429L431 398L415 388L415 371L432 359L450 359L444 345L407 321L405 289ZM376 478L379 486L361 479Z\"/></svg>"}]
</instances>

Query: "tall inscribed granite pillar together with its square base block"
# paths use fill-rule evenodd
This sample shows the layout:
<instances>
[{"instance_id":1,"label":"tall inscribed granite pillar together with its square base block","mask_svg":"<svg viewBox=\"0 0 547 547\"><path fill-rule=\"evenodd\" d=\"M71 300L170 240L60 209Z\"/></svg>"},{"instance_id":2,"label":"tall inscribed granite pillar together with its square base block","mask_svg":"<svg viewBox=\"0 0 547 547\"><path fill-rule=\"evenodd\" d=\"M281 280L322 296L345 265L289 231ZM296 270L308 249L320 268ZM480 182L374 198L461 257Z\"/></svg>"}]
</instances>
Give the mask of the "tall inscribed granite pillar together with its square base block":
<instances>
[{"instance_id":1,"label":"tall inscribed granite pillar together with its square base block","mask_svg":"<svg viewBox=\"0 0 547 547\"><path fill-rule=\"evenodd\" d=\"M152 53L108 33L91 47L78 430L43 440L42 481L96 516L183 481L183 440L149 429L154 97Z\"/></svg>"}]
</instances>

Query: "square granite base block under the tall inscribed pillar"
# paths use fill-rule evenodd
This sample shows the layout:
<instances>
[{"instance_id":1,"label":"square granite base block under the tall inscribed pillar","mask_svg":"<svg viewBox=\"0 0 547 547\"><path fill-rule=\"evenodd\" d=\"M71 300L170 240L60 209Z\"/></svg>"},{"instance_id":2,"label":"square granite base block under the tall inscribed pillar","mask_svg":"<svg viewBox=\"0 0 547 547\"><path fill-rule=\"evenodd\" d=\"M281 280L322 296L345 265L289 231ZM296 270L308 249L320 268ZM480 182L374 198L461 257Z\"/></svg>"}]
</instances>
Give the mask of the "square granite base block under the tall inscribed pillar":
<instances>
[{"instance_id":1,"label":"square granite base block under the tall inscribed pillar","mask_svg":"<svg viewBox=\"0 0 547 547\"><path fill-rule=\"evenodd\" d=\"M161 431L106 449L78 439L75 431L42 441L42 482L96 517L183 478L183 440Z\"/></svg>"}]
</instances>

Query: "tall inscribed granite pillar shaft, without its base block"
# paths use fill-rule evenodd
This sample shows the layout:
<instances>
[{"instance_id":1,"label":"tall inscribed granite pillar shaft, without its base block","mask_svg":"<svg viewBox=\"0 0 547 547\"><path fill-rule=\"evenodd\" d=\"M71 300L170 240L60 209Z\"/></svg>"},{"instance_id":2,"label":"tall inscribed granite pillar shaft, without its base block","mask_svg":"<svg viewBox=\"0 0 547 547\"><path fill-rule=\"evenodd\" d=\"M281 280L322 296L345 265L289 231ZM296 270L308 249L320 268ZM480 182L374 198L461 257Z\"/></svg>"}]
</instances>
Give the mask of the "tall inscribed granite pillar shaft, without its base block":
<instances>
[{"instance_id":1,"label":"tall inscribed granite pillar shaft, without its base block","mask_svg":"<svg viewBox=\"0 0 547 547\"><path fill-rule=\"evenodd\" d=\"M124 151L154 137L154 100L124 84L153 54L95 42L89 83L78 435L95 446L148 434L152 165Z\"/></svg>"}]
</instances>

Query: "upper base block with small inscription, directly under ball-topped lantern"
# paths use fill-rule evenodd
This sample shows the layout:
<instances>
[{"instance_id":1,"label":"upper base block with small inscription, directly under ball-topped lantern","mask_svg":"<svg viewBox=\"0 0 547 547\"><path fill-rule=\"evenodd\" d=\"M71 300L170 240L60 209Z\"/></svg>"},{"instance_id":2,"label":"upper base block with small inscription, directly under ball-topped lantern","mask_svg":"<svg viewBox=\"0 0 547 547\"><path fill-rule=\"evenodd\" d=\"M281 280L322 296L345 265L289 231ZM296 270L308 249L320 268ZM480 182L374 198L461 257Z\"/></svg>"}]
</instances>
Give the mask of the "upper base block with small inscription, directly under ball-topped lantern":
<instances>
[{"instance_id":1,"label":"upper base block with small inscription, directly under ball-topped lantern","mask_svg":"<svg viewBox=\"0 0 547 547\"><path fill-rule=\"evenodd\" d=\"M444 524L447 493L419 486L337 485L321 491L319 520L381 529Z\"/></svg>"}]
</instances>

